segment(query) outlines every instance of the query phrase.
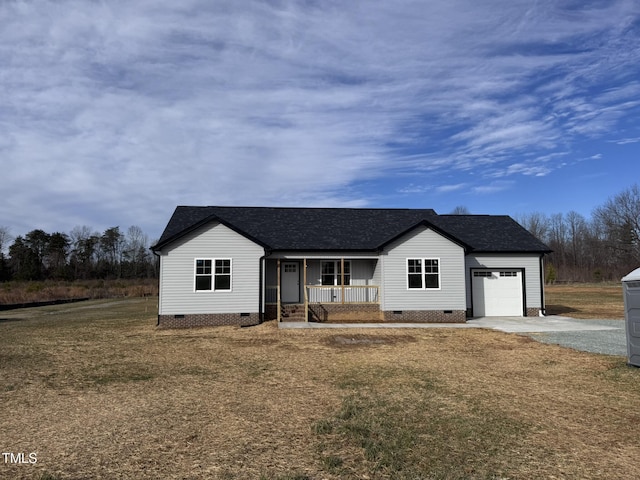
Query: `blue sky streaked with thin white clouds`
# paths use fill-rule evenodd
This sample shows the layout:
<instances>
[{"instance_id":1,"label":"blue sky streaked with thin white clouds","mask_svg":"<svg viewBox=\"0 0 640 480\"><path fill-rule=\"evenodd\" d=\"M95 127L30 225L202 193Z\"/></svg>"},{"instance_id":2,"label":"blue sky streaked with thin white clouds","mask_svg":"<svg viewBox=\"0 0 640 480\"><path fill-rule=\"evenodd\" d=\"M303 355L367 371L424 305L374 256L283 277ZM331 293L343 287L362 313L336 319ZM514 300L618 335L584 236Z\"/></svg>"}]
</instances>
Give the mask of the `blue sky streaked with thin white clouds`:
<instances>
[{"instance_id":1,"label":"blue sky streaked with thin white clouds","mask_svg":"<svg viewBox=\"0 0 640 480\"><path fill-rule=\"evenodd\" d=\"M0 3L0 226L176 205L589 217L640 181L636 0Z\"/></svg>"}]
</instances>

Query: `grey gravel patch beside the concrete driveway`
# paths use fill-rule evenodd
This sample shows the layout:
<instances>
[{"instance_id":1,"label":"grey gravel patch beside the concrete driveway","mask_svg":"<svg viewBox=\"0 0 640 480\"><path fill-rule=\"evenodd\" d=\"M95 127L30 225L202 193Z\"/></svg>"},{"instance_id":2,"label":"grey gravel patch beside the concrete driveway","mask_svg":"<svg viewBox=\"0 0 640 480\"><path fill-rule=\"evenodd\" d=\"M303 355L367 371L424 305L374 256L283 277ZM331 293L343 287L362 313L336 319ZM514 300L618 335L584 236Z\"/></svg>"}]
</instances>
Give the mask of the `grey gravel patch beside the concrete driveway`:
<instances>
[{"instance_id":1,"label":"grey gravel patch beside the concrete driveway","mask_svg":"<svg viewBox=\"0 0 640 480\"><path fill-rule=\"evenodd\" d=\"M601 325L607 330L577 330L563 332L536 332L525 335L542 343L562 345L592 353L627 356L627 338L624 320L576 320L586 325Z\"/></svg>"}]
</instances>

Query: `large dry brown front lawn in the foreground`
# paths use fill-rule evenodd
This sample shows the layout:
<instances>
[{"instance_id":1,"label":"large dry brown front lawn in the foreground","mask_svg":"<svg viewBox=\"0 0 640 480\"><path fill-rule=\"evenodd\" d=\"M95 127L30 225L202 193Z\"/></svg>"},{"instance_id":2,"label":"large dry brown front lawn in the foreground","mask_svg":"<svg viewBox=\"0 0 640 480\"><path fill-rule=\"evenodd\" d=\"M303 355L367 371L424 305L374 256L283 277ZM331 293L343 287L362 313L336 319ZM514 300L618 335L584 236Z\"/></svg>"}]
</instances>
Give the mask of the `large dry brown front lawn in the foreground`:
<instances>
[{"instance_id":1,"label":"large dry brown front lawn in the foreground","mask_svg":"<svg viewBox=\"0 0 640 480\"><path fill-rule=\"evenodd\" d=\"M639 478L640 369L482 330L157 330L0 312L12 479Z\"/></svg>"}]
</instances>

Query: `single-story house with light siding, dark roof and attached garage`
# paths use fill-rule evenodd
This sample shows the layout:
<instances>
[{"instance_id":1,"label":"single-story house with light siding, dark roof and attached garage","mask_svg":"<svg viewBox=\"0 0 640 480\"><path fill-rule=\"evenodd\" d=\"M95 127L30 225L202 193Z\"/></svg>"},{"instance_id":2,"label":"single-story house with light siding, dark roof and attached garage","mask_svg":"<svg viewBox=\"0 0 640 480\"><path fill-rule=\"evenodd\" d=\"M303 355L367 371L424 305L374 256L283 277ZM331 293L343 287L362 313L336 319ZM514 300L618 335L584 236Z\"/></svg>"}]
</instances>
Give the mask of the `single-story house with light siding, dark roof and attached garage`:
<instances>
[{"instance_id":1,"label":"single-story house with light siding, dark roof and attached garage","mask_svg":"<svg viewBox=\"0 0 640 480\"><path fill-rule=\"evenodd\" d=\"M550 252L508 216L189 206L152 249L164 327L537 316Z\"/></svg>"}]
</instances>

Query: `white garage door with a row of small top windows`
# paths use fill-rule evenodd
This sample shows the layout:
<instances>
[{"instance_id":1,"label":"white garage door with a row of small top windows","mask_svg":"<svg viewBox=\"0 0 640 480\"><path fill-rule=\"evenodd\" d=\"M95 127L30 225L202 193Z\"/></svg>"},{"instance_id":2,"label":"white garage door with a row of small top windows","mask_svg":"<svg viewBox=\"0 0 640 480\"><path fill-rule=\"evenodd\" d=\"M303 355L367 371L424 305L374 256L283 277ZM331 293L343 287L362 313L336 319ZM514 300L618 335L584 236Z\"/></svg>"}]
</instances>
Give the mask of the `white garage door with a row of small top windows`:
<instances>
[{"instance_id":1,"label":"white garage door with a row of small top windows","mask_svg":"<svg viewBox=\"0 0 640 480\"><path fill-rule=\"evenodd\" d=\"M521 317L522 306L522 271L473 271L475 317Z\"/></svg>"}]
</instances>

